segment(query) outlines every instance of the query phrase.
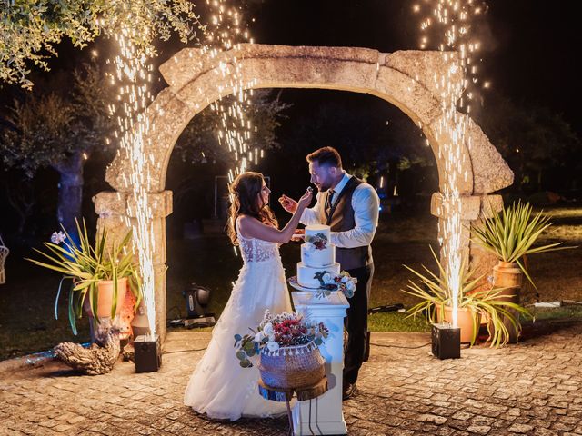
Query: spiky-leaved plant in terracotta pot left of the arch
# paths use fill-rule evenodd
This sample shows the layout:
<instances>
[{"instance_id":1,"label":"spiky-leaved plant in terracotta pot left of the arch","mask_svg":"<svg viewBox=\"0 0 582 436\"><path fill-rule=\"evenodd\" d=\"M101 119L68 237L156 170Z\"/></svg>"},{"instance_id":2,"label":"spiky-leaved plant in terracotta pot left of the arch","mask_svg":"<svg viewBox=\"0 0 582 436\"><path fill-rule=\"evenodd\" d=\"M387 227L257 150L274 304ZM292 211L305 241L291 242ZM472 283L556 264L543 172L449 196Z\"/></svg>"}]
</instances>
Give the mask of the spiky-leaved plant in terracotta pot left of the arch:
<instances>
[{"instance_id":1,"label":"spiky-leaved plant in terracotta pot left of the arch","mask_svg":"<svg viewBox=\"0 0 582 436\"><path fill-rule=\"evenodd\" d=\"M44 243L49 253L36 250L45 258L45 262L26 259L36 265L64 274L59 284L55 299L55 317L57 317L58 299L65 279L71 279L73 285L69 291L68 316L73 333L76 334L76 320L83 317L83 308L96 323L101 318L114 318L119 312L127 288L135 295L135 308L142 299L141 283L131 250L131 231L121 243L108 242L104 230L97 235L95 246L89 243L89 236L83 221L83 228L76 223L79 243L66 233L53 233L50 243Z\"/></svg>"}]
</instances>

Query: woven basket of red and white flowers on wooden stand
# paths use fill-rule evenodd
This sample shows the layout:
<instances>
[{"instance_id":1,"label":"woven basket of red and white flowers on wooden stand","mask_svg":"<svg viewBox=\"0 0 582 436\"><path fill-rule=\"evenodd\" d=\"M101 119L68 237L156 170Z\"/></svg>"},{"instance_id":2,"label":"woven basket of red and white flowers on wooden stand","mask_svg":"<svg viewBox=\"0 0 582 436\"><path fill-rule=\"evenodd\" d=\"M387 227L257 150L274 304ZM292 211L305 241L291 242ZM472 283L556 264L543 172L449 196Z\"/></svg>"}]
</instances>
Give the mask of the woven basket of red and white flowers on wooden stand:
<instances>
[{"instance_id":1,"label":"woven basket of red and white flowers on wooden stand","mask_svg":"<svg viewBox=\"0 0 582 436\"><path fill-rule=\"evenodd\" d=\"M322 323L306 322L301 315L265 312L252 334L235 335L236 357L243 368L259 356L261 380L274 388L302 388L316 384L325 375L325 359L318 346L328 331Z\"/></svg>"}]
</instances>

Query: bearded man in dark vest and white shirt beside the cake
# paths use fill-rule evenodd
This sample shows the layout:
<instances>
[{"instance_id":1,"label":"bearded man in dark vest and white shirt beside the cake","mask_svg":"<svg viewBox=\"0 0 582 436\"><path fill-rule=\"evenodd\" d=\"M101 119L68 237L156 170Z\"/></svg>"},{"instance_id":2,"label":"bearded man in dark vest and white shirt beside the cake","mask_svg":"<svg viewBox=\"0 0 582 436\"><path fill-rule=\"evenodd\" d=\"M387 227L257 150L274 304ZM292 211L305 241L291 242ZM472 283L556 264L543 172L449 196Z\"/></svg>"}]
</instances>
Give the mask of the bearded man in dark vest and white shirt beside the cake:
<instances>
[{"instance_id":1,"label":"bearded man in dark vest and white shirt beside the cake","mask_svg":"<svg viewBox=\"0 0 582 436\"><path fill-rule=\"evenodd\" d=\"M356 292L349 300L344 358L344 400L356 393L357 372L366 352L367 302L370 296L374 262L370 243L378 225L375 189L346 173L335 148L323 147L307 155L311 183L317 186L317 202L306 209L301 223L327 224L331 227L331 243L336 245L336 261L343 271L357 278ZM282 195L284 209L294 213L297 203Z\"/></svg>"}]
</instances>

